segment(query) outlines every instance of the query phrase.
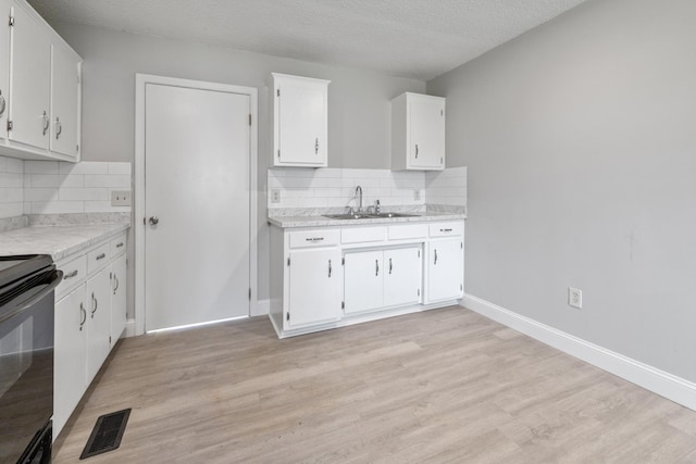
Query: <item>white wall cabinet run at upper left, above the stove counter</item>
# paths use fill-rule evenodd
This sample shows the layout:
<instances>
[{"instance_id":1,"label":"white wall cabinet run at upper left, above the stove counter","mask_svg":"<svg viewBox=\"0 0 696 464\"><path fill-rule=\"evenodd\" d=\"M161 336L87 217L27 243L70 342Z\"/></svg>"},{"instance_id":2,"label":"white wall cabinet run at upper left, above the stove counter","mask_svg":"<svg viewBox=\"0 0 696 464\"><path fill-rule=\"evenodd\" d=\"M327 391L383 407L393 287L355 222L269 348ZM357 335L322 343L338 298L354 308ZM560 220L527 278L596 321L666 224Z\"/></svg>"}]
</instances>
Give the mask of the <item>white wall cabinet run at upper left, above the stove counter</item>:
<instances>
[{"instance_id":1,"label":"white wall cabinet run at upper left, above the stove counter","mask_svg":"<svg viewBox=\"0 0 696 464\"><path fill-rule=\"evenodd\" d=\"M82 59L26 1L0 0L0 8L10 18L0 41L9 51L0 51L0 91L8 103L0 154L79 161Z\"/></svg>"}]
</instances>

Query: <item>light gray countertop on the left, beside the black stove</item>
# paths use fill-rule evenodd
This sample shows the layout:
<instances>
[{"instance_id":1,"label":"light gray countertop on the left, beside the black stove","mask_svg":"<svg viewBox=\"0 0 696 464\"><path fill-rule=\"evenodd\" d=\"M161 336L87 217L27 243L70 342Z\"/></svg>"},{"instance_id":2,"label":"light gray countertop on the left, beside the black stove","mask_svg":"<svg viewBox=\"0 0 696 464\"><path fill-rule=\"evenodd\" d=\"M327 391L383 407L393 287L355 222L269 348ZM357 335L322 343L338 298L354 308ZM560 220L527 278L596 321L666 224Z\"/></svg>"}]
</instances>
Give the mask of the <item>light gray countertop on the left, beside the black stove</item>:
<instances>
[{"instance_id":1,"label":"light gray countertop on the left, beside the black stove","mask_svg":"<svg viewBox=\"0 0 696 464\"><path fill-rule=\"evenodd\" d=\"M50 254L60 261L127 230L129 224L29 226L0 233L0 255Z\"/></svg>"}]
</instances>

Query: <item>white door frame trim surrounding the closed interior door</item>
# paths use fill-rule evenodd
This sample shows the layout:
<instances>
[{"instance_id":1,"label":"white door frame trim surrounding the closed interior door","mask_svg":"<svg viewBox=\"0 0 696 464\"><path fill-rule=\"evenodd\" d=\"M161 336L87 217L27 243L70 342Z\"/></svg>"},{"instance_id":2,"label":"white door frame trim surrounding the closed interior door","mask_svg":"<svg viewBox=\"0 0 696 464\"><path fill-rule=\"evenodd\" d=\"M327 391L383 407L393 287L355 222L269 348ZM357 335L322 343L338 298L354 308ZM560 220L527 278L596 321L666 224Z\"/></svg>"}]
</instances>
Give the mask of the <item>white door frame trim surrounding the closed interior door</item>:
<instances>
[{"instance_id":1,"label":"white door frame trim surrounding the closed interior door","mask_svg":"<svg viewBox=\"0 0 696 464\"><path fill-rule=\"evenodd\" d=\"M259 159L259 99L256 87L179 79L151 74L135 75L135 335L145 334L145 88L148 84L190 89L222 91L249 96L251 124L249 129L249 315L257 313L258 305L258 159Z\"/></svg>"}]
</instances>

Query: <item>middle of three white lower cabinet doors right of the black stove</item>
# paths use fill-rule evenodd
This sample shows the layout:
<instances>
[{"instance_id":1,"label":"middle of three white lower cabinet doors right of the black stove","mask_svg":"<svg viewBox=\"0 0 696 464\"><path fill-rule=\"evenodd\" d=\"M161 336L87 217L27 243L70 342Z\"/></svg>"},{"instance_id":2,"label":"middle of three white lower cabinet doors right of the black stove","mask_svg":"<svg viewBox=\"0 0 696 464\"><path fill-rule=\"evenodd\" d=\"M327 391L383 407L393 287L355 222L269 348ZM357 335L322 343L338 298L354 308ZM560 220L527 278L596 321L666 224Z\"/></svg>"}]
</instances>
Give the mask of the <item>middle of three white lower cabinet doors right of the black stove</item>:
<instances>
[{"instance_id":1,"label":"middle of three white lower cabinet doors right of the black stove","mask_svg":"<svg viewBox=\"0 0 696 464\"><path fill-rule=\"evenodd\" d=\"M111 286L109 268L87 280L87 383L91 383L111 346Z\"/></svg>"}]
</instances>

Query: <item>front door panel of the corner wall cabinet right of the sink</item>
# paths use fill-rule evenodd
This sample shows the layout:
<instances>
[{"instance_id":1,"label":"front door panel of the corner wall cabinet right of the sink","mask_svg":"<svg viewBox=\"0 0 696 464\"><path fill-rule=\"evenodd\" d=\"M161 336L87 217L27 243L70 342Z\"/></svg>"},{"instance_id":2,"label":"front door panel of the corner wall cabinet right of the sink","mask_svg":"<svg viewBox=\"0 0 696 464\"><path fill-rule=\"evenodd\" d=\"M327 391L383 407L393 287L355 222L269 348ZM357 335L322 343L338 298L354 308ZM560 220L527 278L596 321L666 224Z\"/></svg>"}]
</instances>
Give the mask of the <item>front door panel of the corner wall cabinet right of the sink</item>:
<instances>
[{"instance_id":1,"label":"front door panel of the corner wall cabinet right of the sink","mask_svg":"<svg viewBox=\"0 0 696 464\"><path fill-rule=\"evenodd\" d=\"M409 154L412 167L445 167L445 102L442 99L413 98L410 114Z\"/></svg>"}]
</instances>

